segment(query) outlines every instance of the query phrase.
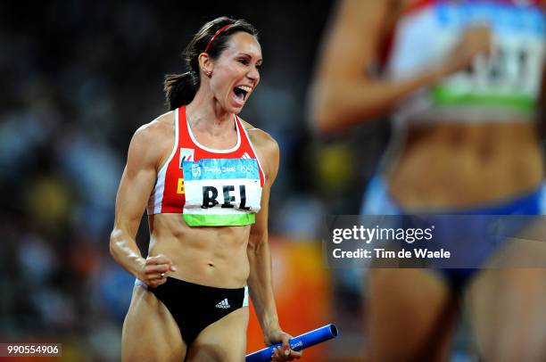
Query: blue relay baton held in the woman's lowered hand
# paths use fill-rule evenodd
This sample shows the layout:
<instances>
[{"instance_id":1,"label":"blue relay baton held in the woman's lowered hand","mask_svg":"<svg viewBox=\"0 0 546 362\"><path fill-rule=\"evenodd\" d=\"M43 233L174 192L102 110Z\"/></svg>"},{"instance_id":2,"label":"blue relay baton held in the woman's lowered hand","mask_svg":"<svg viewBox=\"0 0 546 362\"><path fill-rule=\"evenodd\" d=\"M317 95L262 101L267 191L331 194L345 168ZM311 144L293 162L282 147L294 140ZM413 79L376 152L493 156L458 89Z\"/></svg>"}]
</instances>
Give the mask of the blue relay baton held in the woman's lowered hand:
<instances>
[{"instance_id":1,"label":"blue relay baton held in the woman's lowered hand","mask_svg":"<svg viewBox=\"0 0 546 362\"><path fill-rule=\"evenodd\" d=\"M290 343L290 348L292 350L303 350L310 346L314 346L323 341L331 340L337 337L337 328L335 325L325 325L320 328L310 331L308 333L303 333L294 337L288 343ZM282 346L282 343L272 344L263 350L258 350L250 355L246 356L245 362L266 362L271 360L271 355L273 354L273 349L276 349L278 346Z\"/></svg>"}]
</instances>

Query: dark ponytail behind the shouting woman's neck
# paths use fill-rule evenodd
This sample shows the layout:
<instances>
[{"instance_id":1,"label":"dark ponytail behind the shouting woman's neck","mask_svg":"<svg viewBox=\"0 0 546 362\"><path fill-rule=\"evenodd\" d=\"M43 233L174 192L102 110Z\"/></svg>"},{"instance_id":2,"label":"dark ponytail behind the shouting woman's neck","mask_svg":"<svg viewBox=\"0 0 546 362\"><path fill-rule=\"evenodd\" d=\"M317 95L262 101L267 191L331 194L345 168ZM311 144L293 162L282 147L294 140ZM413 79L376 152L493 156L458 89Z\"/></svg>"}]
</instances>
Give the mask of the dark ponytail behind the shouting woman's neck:
<instances>
[{"instance_id":1,"label":"dark ponytail behind the shouting woman's neck","mask_svg":"<svg viewBox=\"0 0 546 362\"><path fill-rule=\"evenodd\" d=\"M191 71L182 74L167 74L163 89L169 104L169 111L192 102L199 88L199 82L199 77Z\"/></svg>"}]
</instances>

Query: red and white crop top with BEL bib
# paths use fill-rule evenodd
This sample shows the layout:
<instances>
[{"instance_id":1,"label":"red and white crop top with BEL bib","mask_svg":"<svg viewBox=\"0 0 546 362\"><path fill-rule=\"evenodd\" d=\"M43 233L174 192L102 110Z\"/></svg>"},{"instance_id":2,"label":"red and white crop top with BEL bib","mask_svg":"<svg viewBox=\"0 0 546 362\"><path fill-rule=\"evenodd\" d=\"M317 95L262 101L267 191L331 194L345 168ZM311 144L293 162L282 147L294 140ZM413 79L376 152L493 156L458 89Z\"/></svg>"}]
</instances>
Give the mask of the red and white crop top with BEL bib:
<instances>
[{"instance_id":1,"label":"red and white crop top with BEL bib","mask_svg":"<svg viewBox=\"0 0 546 362\"><path fill-rule=\"evenodd\" d=\"M234 119L236 145L214 150L195 139L186 106L174 115L173 150L157 174L148 215L180 213L189 226L252 224L261 208L265 175L241 119Z\"/></svg>"}]
</instances>

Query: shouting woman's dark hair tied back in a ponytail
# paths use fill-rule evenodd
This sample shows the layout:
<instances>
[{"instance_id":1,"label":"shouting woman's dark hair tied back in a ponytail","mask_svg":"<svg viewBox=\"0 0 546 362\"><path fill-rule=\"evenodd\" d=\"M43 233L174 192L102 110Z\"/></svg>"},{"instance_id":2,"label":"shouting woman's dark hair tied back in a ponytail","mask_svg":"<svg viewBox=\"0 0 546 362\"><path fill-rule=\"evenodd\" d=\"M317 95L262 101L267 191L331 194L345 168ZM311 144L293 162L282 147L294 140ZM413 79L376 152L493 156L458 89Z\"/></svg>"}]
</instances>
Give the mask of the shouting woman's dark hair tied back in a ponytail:
<instances>
[{"instance_id":1,"label":"shouting woman's dark hair tied back in a ponytail","mask_svg":"<svg viewBox=\"0 0 546 362\"><path fill-rule=\"evenodd\" d=\"M209 45L214 34L228 24L231 24L231 26L222 30L211 42L211 45ZM234 20L227 16L209 21L197 31L186 46L184 53L182 53L187 69L186 73L167 74L165 76L163 89L165 90L170 111L175 110L181 105L190 103L194 99L197 89L199 89L201 84L199 54L203 53L207 45L209 45L207 53L211 56L212 60L218 59L219 55L227 48L229 37L239 31L249 33L258 39L258 31L250 23L242 19Z\"/></svg>"}]
</instances>

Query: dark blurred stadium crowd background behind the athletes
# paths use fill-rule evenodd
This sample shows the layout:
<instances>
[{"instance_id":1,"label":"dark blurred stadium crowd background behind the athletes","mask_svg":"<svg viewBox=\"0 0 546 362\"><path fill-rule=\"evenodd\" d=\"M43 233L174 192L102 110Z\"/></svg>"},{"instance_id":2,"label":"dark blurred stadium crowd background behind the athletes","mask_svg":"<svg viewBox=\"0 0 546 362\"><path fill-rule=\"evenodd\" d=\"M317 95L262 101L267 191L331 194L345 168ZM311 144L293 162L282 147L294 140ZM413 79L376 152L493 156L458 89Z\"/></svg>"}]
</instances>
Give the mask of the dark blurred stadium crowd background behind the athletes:
<instances>
[{"instance_id":1,"label":"dark blurred stadium crowd background behind the athletes","mask_svg":"<svg viewBox=\"0 0 546 362\"><path fill-rule=\"evenodd\" d=\"M0 341L62 342L65 360L120 358L134 278L113 261L108 242L128 143L167 110L163 76L183 71L180 53L194 32L229 15L261 30L261 85L242 116L281 149L270 234L282 325L297 335L334 322L340 338L305 359L362 360L360 278L324 266L319 233L325 214L358 213L389 129L375 122L319 140L305 119L331 7L327 0L0 4ZM145 222L137 242L145 251ZM255 319L248 338L249 351L263 347Z\"/></svg>"}]
</instances>

